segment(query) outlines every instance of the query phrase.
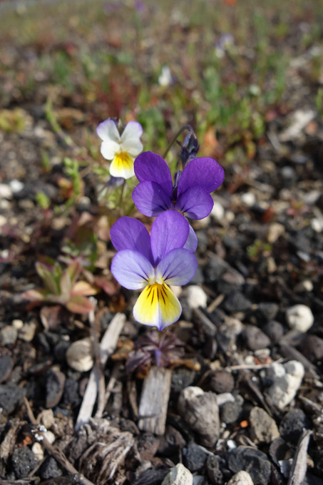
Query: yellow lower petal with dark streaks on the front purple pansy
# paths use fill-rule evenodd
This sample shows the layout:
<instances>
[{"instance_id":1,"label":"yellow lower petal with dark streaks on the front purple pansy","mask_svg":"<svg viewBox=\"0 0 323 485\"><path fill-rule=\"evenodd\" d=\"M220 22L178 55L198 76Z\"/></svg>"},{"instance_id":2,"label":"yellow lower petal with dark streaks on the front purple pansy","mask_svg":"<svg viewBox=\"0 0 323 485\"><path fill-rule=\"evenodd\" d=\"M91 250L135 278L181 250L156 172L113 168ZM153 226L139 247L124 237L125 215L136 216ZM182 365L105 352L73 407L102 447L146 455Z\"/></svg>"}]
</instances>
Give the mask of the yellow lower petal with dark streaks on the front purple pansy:
<instances>
[{"instance_id":1,"label":"yellow lower petal with dark streaks on the front purple pansy","mask_svg":"<svg viewBox=\"0 0 323 485\"><path fill-rule=\"evenodd\" d=\"M135 320L158 330L176 322L181 312L180 302L165 283L146 286L133 307Z\"/></svg>"}]
</instances>

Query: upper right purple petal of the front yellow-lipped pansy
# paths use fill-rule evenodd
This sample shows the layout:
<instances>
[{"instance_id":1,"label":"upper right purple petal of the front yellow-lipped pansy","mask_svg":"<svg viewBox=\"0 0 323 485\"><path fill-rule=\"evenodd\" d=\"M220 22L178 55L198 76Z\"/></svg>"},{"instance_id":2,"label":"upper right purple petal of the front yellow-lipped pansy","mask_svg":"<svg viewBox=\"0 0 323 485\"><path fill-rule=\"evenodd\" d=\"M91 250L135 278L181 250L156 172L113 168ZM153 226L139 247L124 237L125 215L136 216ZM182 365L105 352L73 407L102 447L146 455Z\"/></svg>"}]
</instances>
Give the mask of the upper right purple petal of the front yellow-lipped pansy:
<instances>
[{"instance_id":1,"label":"upper right purple petal of the front yellow-lipped pansy","mask_svg":"<svg viewBox=\"0 0 323 485\"><path fill-rule=\"evenodd\" d=\"M167 210L154 220L150 244L155 265L171 250L183 247L190 232L188 221L175 210Z\"/></svg>"}]
</instances>

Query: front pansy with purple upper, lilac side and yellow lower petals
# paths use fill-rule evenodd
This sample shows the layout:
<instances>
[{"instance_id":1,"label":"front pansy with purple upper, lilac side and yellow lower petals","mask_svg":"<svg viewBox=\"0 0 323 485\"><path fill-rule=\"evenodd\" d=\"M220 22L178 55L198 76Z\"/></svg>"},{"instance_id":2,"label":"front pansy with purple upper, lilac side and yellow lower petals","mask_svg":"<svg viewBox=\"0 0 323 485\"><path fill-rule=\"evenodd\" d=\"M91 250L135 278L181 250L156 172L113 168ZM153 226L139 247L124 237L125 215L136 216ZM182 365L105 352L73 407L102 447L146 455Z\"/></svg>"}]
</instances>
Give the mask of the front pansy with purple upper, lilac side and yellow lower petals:
<instances>
[{"instance_id":1,"label":"front pansy with purple upper, lilac side and yellow lower petals","mask_svg":"<svg viewBox=\"0 0 323 485\"><path fill-rule=\"evenodd\" d=\"M111 228L111 241L118 251L111 264L116 280L128 290L140 290L133 316L144 325L168 327L182 308L170 285L186 285L198 263L183 246L188 239L188 221L175 211L154 220L151 233L139 220L123 217Z\"/></svg>"}]
</instances>

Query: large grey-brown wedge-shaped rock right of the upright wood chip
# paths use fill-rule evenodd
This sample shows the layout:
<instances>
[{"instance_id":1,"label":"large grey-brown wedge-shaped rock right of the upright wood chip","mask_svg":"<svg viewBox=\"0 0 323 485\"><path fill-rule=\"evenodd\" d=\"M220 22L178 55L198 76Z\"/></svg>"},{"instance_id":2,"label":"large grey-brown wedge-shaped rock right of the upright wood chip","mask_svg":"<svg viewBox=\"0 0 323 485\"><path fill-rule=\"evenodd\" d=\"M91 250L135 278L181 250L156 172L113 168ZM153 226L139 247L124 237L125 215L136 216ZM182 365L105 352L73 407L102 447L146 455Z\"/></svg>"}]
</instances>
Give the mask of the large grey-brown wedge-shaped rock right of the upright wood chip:
<instances>
[{"instance_id":1,"label":"large grey-brown wedge-shaped rock right of the upright wood chip","mask_svg":"<svg viewBox=\"0 0 323 485\"><path fill-rule=\"evenodd\" d=\"M220 435L217 399L200 387L186 387L178 398L178 411L185 422L199 435L202 446L214 446Z\"/></svg>"}]
</instances>

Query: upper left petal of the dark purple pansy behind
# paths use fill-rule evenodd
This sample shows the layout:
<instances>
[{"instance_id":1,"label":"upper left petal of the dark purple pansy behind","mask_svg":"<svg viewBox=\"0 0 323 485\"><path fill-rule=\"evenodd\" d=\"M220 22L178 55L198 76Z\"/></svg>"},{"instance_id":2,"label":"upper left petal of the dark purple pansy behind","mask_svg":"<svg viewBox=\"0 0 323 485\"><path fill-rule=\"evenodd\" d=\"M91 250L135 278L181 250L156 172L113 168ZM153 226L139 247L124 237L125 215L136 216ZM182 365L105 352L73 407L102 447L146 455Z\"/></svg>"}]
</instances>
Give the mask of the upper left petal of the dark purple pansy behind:
<instances>
[{"instance_id":1,"label":"upper left petal of the dark purple pansy behind","mask_svg":"<svg viewBox=\"0 0 323 485\"><path fill-rule=\"evenodd\" d=\"M153 152L143 152L135 159L135 175L139 182L156 182L172 196L173 180L165 160Z\"/></svg>"}]
</instances>

